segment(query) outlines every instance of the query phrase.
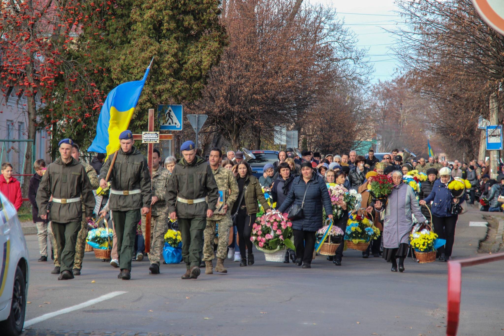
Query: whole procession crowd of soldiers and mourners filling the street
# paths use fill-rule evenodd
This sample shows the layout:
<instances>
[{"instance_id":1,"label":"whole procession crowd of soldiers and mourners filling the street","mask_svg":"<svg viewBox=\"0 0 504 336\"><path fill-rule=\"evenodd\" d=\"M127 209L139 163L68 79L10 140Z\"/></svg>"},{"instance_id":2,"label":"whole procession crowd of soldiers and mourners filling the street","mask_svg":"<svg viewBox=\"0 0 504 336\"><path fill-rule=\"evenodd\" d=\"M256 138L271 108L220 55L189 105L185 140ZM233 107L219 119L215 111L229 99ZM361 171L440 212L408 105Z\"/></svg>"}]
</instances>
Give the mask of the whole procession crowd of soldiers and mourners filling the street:
<instances>
[{"instance_id":1,"label":"whole procession crowd of soldiers and mourners filling the street","mask_svg":"<svg viewBox=\"0 0 504 336\"><path fill-rule=\"evenodd\" d=\"M466 164L455 160L449 164L438 162L436 157L427 160L410 157L403 162L404 154L398 150L379 160L372 149L366 158L356 151L322 156L287 148L279 152L277 161L267 163L257 178L244 153L223 154L221 149L212 148L205 160L191 141L182 144L179 160L175 157L163 160L155 149L151 177L146 158L133 146L132 133L122 132L119 140L116 156L97 154L91 164L80 160L79 146L71 139L59 142L60 157L50 165L46 166L43 160L35 162L29 199L38 230L39 261L48 260L50 238L54 263L51 273L59 275L59 280L74 279L81 274L88 223L98 214L112 222L110 264L120 269L119 279L131 279L132 262L145 256L150 262L149 274L159 274L164 234L171 228L180 230L182 238L182 259L186 266L182 279L197 279L200 267L205 267L205 274L213 274L214 257L216 272L227 273L226 258L240 262L240 266L254 265L250 238L257 214L292 213L293 209L299 210L299 216L291 219L295 250L286 250L284 262L310 268L316 232L325 219L333 219L335 226L346 230L349 213L333 217L328 188L336 185L362 195L361 209L372 215L373 225L381 231L362 257L382 256L392 263L393 272L403 272L412 214L418 222L432 222L439 238L446 239L446 245L437 249L437 257L440 261L450 260L458 220L452 205L461 201L448 191L447 185L453 178L468 179L472 187L467 190L467 203L474 204L476 198L486 196L488 211L500 210L495 199L504 192L504 167L497 180L491 180L488 163L481 161ZM403 174L413 169L428 177L421 183L418 198L403 181ZM12 166L4 163L2 174L0 190L20 206L19 182L10 176ZM369 195L368 179L376 175L388 175L394 182L387 202L373 200ZM98 198L93 190L98 186L109 189L109 194L96 205ZM222 212L214 213L219 190L226 190L225 204ZM271 202L265 198L265 191ZM462 201L465 203L465 198ZM339 205L346 209L343 201ZM150 239L146 239L149 212L151 230ZM147 240L150 240L148 254ZM340 244L336 254L327 259L341 265L343 251L344 244Z\"/></svg>"}]
</instances>

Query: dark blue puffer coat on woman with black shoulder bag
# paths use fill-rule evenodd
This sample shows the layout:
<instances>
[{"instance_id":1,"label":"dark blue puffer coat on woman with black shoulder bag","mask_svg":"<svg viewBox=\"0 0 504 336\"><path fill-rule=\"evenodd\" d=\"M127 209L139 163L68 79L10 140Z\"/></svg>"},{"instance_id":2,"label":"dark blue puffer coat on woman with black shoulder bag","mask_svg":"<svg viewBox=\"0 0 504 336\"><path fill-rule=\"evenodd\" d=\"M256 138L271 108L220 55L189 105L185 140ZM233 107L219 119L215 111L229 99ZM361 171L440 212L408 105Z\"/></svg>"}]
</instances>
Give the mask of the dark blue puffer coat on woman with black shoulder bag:
<instances>
[{"instance_id":1,"label":"dark blue puffer coat on woman with black shoulder bag","mask_svg":"<svg viewBox=\"0 0 504 336\"><path fill-rule=\"evenodd\" d=\"M292 221L292 228L294 230L317 231L322 228L322 205L324 205L327 215L333 213L331 197L329 196L326 182L324 182L322 177L313 173L308 183L303 207L304 217ZM278 210L281 213L285 213L293 204L301 206L305 187L306 183L304 183L303 177L301 175L296 176L287 198L285 198L284 203Z\"/></svg>"}]
</instances>

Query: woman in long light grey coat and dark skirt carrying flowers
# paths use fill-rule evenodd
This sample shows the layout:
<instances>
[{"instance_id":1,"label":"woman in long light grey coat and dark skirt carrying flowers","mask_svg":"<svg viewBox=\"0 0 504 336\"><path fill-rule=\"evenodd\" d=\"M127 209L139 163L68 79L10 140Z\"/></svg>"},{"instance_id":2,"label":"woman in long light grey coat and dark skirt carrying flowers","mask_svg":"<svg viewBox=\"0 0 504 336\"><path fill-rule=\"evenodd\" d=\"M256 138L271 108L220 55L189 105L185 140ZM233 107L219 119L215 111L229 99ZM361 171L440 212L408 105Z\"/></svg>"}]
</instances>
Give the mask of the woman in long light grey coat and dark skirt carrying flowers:
<instances>
[{"instance_id":1,"label":"woman in long light grey coat and dark skirt carrying flowers","mask_svg":"<svg viewBox=\"0 0 504 336\"><path fill-rule=\"evenodd\" d=\"M411 214L415 215L419 223L427 221L420 211L413 188L403 183L402 177L402 172L398 170L392 173L394 188L385 206L383 258L392 262L392 272L397 272L396 258L399 258L399 272L404 271L404 259L409 248L409 234L413 227ZM377 201L374 209L382 212L384 210L382 202Z\"/></svg>"}]
</instances>

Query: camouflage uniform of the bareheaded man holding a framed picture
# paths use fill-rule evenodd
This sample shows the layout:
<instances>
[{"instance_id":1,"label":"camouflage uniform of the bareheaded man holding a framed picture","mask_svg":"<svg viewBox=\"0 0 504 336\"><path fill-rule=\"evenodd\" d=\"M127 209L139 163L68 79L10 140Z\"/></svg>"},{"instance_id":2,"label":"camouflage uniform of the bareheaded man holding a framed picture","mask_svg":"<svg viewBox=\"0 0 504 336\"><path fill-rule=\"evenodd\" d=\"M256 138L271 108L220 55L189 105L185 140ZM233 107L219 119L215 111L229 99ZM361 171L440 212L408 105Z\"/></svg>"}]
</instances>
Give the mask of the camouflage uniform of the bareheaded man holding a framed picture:
<instances>
[{"instance_id":1,"label":"camouflage uniform of the bareheaded man holding a framed picture","mask_svg":"<svg viewBox=\"0 0 504 336\"><path fill-rule=\"evenodd\" d=\"M215 214L207 219L207 227L203 231L203 261L210 261L214 258L214 238L215 226L219 225L218 233L219 240L217 243L217 258L225 259L227 255L227 245L229 239L229 229L233 226L231 221L231 208L233 208L236 198L238 198L238 183L230 170L219 167L213 170L215 181L219 189L224 189L226 192L227 213L225 215Z\"/></svg>"}]
</instances>

